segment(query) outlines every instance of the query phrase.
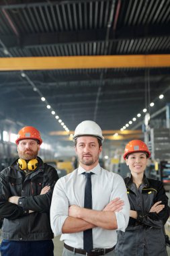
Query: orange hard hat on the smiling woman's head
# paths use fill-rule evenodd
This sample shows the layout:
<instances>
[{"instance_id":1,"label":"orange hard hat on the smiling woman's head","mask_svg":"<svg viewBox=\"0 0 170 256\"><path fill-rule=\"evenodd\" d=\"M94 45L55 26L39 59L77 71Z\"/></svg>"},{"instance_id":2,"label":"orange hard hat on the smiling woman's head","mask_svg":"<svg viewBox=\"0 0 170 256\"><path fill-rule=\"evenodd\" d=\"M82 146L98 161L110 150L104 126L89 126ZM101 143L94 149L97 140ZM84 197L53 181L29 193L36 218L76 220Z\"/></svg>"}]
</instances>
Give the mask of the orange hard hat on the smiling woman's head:
<instances>
[{"instance_id":1,"label":"orange hard hat on the smiling woman's head","mask_svg":"<svg viewBox=\"0 0 170 256\"><path fill-rule=\"evenodd\" d=\"M148 147L146 144L140 139L131 140L124 149L124 160L126 160L126 156L130 153L134 152L146 152L148 154L148 158L151 156L151 152L148 151Z\"/></svg>"}]
</instances>

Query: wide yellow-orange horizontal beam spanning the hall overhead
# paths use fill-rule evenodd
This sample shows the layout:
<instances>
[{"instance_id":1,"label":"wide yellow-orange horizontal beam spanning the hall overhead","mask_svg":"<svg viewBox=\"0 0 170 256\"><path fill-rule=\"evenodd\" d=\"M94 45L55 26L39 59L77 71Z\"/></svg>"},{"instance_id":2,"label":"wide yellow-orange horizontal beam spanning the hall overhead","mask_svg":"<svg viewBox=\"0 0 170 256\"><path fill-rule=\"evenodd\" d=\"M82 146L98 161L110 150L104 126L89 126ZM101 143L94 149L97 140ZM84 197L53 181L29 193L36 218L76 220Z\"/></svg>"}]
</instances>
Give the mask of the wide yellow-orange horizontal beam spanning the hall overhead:
<instances>
[{"instance_id":1,"label":"wide yellow-orange horizontal beam spanning the hall overhead","mask_svg":"<svg viewBox=\"0 0 170 256\"><path fill-rule=\"evenodd\" d=\"M170 67L170 55L103 55L0 58L0 71Z\"/></svg>"}]
</instances>

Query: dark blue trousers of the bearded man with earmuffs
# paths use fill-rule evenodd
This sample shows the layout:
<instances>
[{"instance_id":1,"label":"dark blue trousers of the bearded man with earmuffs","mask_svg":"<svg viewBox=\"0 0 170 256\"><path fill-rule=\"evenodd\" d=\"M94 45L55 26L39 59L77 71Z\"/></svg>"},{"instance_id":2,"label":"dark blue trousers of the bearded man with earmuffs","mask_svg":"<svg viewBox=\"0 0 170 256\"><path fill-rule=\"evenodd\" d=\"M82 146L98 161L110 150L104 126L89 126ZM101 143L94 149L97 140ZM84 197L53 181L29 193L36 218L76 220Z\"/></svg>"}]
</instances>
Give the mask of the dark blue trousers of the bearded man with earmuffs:
<instances>
[{"instance_id":1,"label":"dark blue trousers of the bearded man with earmuffs","mask_svg":"<svg viewBox=\"0 0 170 256\"><path fill-rule=\"evenodd\" d=\"M1 242L1 256L54 256L54 244L48 241L8 241Z\"/></svg>"}]
</instances>

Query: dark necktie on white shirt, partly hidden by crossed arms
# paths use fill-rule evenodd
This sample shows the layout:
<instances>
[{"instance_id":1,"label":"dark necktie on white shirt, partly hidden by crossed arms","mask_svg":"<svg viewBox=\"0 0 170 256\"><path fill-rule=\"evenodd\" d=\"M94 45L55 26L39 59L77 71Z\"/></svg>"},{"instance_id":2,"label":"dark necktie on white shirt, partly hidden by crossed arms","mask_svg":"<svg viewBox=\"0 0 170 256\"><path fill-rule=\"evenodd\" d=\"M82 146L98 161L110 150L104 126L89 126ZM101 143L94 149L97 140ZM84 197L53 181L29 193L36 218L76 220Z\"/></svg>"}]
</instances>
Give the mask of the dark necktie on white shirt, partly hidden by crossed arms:
<instances>
[{"instance_id":1,"label":"dark necktie on white shirt, partly hidden by crossed arms","mask_svg":"<svg viewBox=\"0 0 170 256\"><path fill-rule=\"evenodd\" d=\"M92 196L91 196L91 175L93 172L84 172L86 177L85 183L85 202L84 207L91 209L92 207ZM87 229L83 232L83 244L84 250L89 253L93 249L93 236L92 229Z\"/></svg>"}]
</instances>

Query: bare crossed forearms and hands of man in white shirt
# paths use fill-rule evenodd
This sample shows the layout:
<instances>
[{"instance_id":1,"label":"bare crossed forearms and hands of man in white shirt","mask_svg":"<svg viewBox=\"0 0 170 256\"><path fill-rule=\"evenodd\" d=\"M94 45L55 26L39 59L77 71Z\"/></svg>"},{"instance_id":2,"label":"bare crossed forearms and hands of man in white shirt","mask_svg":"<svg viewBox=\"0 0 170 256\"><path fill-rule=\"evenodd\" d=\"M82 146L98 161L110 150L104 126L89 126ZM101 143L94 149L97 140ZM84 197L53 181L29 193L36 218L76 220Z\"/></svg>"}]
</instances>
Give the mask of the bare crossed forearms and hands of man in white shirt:
<instances>
[{"instance_id":1,"label":"bare crossed forearms and hands of man in white shirt","mask_svg":"<svg viewBox=\"0 0 170 256\"><path fill-rule=\"evenodd\" d=\"M105 229L118 228L115 212L120 212L124 201L116 198L104 207L102 211L89 210L77 205L69 207L69 217L62 225L62 233L75 233L99 226Z\"/></svg>"}]
</instances>

